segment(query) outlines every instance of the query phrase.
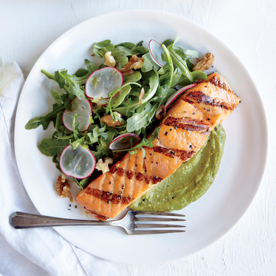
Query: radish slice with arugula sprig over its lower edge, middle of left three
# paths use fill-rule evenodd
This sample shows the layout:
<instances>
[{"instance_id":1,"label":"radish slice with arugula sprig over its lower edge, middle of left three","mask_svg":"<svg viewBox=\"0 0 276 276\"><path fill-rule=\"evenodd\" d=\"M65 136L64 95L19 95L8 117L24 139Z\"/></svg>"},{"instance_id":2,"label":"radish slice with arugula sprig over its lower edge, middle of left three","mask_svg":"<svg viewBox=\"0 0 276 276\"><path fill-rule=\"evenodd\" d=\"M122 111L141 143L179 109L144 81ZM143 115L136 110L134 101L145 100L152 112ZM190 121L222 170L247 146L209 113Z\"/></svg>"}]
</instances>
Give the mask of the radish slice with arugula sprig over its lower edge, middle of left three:
<instances>
[{"instance_id":1,"label":"radish slice with arugula sprig over its lower edge, middle of left three","mask_svg":"<svg viewBox=\"0 0 276 276\"><path fill-rule=\"evenodd\" d=\"M71 110L64 110L62 122L66 129L73 131L73 118L75 113L78 114L78 129L81 132L87 131L90 126L90 116L92 115L92 103L89 100L80 100L75 97L72 102Z\"/></svg>"}]
</instances>

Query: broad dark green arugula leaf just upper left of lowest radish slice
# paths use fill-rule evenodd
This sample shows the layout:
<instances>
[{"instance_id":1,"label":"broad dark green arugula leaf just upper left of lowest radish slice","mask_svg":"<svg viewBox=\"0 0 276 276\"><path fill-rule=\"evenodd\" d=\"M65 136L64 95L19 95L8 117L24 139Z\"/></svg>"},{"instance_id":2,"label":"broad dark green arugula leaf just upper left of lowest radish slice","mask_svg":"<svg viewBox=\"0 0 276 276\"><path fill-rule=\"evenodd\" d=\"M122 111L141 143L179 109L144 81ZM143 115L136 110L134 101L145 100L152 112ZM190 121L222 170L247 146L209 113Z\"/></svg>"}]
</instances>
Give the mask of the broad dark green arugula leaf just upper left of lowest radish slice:
<instances>
[{"instance_id":1,"label":"broad dark green arugula leaf just upper left of lowest radish slice","mask_svg":"<svg viewBox=\"0 0 276 276\"><path fill-rule=\"evenodd\" d=\"M69 143L65 140L45 138L42 139L38 149L46 156L55 156L60 155L67 145L69 145Z\"/></svg>"}]
</instances>

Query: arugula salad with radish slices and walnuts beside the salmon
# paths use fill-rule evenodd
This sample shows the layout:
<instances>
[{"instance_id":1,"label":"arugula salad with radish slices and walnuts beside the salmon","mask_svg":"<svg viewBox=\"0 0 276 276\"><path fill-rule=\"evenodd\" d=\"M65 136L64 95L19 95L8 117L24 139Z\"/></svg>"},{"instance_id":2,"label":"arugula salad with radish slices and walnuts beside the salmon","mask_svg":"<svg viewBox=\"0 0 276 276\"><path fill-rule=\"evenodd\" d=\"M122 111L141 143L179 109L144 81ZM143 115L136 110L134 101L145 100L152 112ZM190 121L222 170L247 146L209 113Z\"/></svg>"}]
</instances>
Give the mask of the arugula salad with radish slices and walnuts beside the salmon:
<instances>
[{"instance_id":1,"label":"arugula salad with radish slices and walnuts beside the salmon","mask_svg":"<svg viewBox=\"0 0 276 276\"><path fill-rule=\"evenodd\" d=\"M152 147L160 128L153 129L166 109L197 80L207 78L193 71L200 53L178 47L178 39L161 45L151 40L149 49L143 41L114 45L105 40L93 45L94 59L104 61L100 66L85 59L86 68L72 75L66 69L54 74L41 70L64 90L51 90L53 110L25 126L45 130L53 121L55 132L41 141L41 153L53 156L57 169L84 188L122 152Z\"/></svg>"}]
</instances>

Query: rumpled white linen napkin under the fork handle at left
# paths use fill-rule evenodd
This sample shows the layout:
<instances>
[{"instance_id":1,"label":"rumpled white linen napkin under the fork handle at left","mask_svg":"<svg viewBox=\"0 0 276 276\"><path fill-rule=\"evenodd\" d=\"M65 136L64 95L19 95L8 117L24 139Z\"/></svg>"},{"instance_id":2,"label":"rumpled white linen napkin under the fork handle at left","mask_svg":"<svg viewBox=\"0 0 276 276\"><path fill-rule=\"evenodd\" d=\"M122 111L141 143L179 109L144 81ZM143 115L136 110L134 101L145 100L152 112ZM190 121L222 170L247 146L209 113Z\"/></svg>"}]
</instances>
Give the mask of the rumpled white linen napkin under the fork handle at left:
<instances>
[{"instance_id":1,"label":"rumpled white linen napkin under the fork handle at left","mask_svg":"<svg viewBox=\"0 0 276 276\"><path fill-rule=\"evenodd\" d=\"M14 229L9 225L9 215L15 211L34 214L38 211L25 191L14 154L14 121L23 74L16 62L1 65L0 58L0 233L16 251L50 275L118 275L110 261L75 247L53 228ZM2 246L5 244L0 250L0 273L3 273L1 267L5 266L5 260L10 260L10 256L1 256ZM14 250L10 250L10 254L14 254L12 252ZM22 275L18 271L20 262L26 271L27 264L23 263L26 258L22 255L14 256L17 271L11 275ZM29 272L28 275L35 275L33 268Z\"/></svg>"}]
</instances>

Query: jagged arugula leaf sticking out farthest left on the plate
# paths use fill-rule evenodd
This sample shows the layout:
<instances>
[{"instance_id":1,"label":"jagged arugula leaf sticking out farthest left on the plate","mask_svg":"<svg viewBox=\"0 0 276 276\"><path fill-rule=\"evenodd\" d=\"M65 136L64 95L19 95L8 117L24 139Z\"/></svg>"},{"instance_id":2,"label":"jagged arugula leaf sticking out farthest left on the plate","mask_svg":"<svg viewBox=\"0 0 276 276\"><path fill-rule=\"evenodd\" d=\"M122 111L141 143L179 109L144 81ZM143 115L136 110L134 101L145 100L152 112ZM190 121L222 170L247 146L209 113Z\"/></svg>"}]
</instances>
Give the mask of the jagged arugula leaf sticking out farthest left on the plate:
<instances>
[{"instance_id":1,"label":"jagged arugula leaf sticking out farthest left on the plate","mask_svg":"<svg viewBox=\"0 0 276 276\"><path fill-rule=\"evenodd\" d=\"M64 106L58 107L57 104L53 104L53 111L49 112L45 116L35 117L34 119L29 120L25 125L25 129L36 129L39 125L42 124L42 127L45 130L51 121L53 121L55 124L57 113L61 111L63 112L64 110Z\"/></svg>"}]
</instances>

